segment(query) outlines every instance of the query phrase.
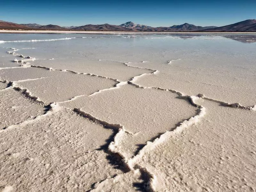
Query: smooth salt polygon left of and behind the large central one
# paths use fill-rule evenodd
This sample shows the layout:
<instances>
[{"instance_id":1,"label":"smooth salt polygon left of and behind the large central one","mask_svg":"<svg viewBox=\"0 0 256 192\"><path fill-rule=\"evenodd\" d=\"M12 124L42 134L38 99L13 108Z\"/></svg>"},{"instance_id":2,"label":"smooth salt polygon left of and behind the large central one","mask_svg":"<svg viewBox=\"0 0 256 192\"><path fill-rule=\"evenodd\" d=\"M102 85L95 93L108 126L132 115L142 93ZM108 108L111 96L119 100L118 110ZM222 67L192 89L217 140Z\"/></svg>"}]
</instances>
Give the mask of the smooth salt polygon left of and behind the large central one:
<instances>
[{"instance_id":1,"label":"smooth salt polygon left of and behind the large central one","mask_svg":"<svg viewBox=\"0 0 256 192\"><path fill-rule=\"evenodd\" d=\"M51 73L49 70L48 72ZM46 102L59 102L69 100L78 95L90 95L98 90L113 87L116 84L111 79L97 76L62 71L58 71L55 74L55 76L32 81L17 82L15 85L27 87L33 95L40 95L40 99ZM47 86L45 86L46 84Z\"/></svg>"}]
</instances>

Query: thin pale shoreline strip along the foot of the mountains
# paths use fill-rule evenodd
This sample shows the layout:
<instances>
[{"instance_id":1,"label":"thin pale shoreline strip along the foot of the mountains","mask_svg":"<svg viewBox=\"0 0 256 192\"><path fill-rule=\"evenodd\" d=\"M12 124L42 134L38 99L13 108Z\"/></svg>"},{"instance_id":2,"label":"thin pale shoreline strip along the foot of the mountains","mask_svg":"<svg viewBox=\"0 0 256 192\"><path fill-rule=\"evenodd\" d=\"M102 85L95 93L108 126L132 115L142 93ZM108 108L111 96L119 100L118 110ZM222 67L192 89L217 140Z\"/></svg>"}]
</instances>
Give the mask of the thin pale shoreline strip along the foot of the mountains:
<instances>
[{"instance_id":1,"label":"thin pale shoreline strip along the foot of the mountains","mask_svg":"<svg viewBox=\"0 0 256 192\"><path fill-rule=\"evenodd\" d=\"M205 33L205 34L256 34L256 32L182 32L182 31L170 31L170 32L143 32L143 31L63 31L63 30L0 30L0 33L77 33L77 34L191 34L191 33Z\"/></svg>"}]
</instances>

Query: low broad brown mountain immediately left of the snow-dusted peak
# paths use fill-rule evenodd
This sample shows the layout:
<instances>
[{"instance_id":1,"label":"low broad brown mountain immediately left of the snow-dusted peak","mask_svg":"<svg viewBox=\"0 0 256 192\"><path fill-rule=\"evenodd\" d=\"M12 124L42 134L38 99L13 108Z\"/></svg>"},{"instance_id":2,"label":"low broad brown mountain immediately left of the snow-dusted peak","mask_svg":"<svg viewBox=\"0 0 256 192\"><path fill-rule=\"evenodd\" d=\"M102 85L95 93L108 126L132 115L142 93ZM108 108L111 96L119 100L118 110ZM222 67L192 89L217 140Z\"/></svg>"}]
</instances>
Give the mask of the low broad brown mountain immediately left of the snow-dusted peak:
<instances>
[{"instance_id":1,"label":"low broad brown mountain immediately left of the snow-dusted peak","mask_svg":"<svg viewBox=\"0 0 256 192\"><path fill-rule=\"evenodd\" d=\"M72 28L72 30L85 30L85 31L137 31L136 29L124 28L118 25L84 25L76 28Z\"/></svg>"}]
</instances>

